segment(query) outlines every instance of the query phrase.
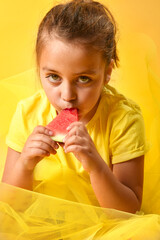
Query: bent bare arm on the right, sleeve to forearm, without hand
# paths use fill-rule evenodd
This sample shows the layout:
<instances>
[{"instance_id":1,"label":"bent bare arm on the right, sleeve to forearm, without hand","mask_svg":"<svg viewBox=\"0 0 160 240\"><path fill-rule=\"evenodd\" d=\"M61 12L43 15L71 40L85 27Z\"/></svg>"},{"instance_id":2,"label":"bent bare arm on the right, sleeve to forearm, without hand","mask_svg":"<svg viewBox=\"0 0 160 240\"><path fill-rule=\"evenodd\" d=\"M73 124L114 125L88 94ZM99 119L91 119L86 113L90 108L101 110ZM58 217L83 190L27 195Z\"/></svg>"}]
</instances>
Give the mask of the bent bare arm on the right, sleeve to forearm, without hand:
<instances>
[{"instance_id":1,"label":"bent bare arm on the right, sleeve to forearm, without hand","mask_svg":"<svg viewBox=\"0 0 160 240\"><path fill-rule=\"evenodd\" d=\"M144 157L113 165L105 163L90 172L93 190L102 207L135 213L140 210L143 192Z\"/></svg>"}]
</instances>

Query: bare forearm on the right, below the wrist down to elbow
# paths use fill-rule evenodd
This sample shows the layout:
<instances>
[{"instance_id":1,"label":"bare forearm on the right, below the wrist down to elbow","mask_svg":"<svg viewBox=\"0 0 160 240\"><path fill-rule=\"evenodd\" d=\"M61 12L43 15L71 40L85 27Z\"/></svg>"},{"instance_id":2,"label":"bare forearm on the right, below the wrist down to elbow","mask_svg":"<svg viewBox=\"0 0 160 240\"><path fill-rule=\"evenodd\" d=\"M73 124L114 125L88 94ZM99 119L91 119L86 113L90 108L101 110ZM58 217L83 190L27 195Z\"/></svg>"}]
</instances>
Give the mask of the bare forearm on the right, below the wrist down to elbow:
<instances>
[{"instance_id":1,"label":"bare forearm on the right, below the wrist down to elbow","mask_svg":"<svg viewBox=\"0 0 160 240\"><path fill-rule=\"evenodd\" d=\"M140 201L129 187L123 185L102 163L101 170L90 172L90 180L101 207L114 208L135 213L140 209Z\"/></svg>"}]
</instances>

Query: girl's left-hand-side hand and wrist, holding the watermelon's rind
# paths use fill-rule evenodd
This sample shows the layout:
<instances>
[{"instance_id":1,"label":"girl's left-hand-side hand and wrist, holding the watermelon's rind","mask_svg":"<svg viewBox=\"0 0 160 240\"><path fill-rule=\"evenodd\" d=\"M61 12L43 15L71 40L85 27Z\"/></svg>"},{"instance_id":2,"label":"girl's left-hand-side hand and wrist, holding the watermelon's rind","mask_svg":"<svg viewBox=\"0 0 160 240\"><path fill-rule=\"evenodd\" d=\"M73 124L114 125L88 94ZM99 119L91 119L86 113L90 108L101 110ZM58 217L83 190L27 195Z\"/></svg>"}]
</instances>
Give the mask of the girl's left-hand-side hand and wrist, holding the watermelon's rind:
<instances>
[{"instance_id":1,"label":"girl's left-hand-side hand and wrist, holding the watermelon's rind","mask_svg":"<svg viewBox=\"0 0 160 240\"><path fill-rule=\"evenodd\" d=\"M27 170L33 170L45 156L56 154L55 149L59 146L51 139L51 136L50 130L37 126L28 137L19 159Z\"/></svg>"}]
</instances>

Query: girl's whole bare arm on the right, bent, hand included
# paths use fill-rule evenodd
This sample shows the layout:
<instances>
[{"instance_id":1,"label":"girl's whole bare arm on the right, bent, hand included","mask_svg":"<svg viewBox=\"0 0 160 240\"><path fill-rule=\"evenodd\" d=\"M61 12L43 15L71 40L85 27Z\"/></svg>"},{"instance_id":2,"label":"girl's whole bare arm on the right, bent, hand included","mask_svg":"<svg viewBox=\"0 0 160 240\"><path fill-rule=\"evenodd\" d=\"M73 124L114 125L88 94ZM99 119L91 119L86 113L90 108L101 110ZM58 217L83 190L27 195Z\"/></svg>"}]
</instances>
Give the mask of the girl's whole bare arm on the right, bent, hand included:
<instances>
[{"instance_id":1,"label":"girl's whole bare arm on the right, bent, hand included","mask_svg":"<svg viewBox=\"0 0 160 240\"><path fill-rule=\"evenodd\" d=\"M65 138L65 151L73 152L89 173L101 207L135 213L143 188L143 156L113 165L111 170L97 152L85 126L73 123Z\"/></svg>"}]
</instances>

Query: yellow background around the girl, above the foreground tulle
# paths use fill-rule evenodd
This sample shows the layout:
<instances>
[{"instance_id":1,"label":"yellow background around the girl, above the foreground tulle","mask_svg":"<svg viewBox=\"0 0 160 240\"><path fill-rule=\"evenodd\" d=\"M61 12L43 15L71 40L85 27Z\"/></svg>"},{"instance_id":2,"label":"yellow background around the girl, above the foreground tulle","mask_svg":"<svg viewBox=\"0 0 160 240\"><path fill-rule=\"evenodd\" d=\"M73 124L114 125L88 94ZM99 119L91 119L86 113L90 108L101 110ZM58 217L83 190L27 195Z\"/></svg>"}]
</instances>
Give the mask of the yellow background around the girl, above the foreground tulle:
<instances>
[{"instance_id":1,"label":"yellow background around the girl, above the foreground tulle","mask_svg":"<svg viewBox=\"0 0 160 240\"><path fill-rule=\"evenodd\" d=\"M0 177L5 136L17 102L37 89L37 27L49 0L0 1ZM118 23L120 68L111 84L142 108L150 151L146 156L144 209L160 213L160 1L106 0ZM160 186L159 186L160 189ZM148 201L148 199L150 201ZM152 207L153 206L153 207Z\"/></svg>"}]
</instances>

